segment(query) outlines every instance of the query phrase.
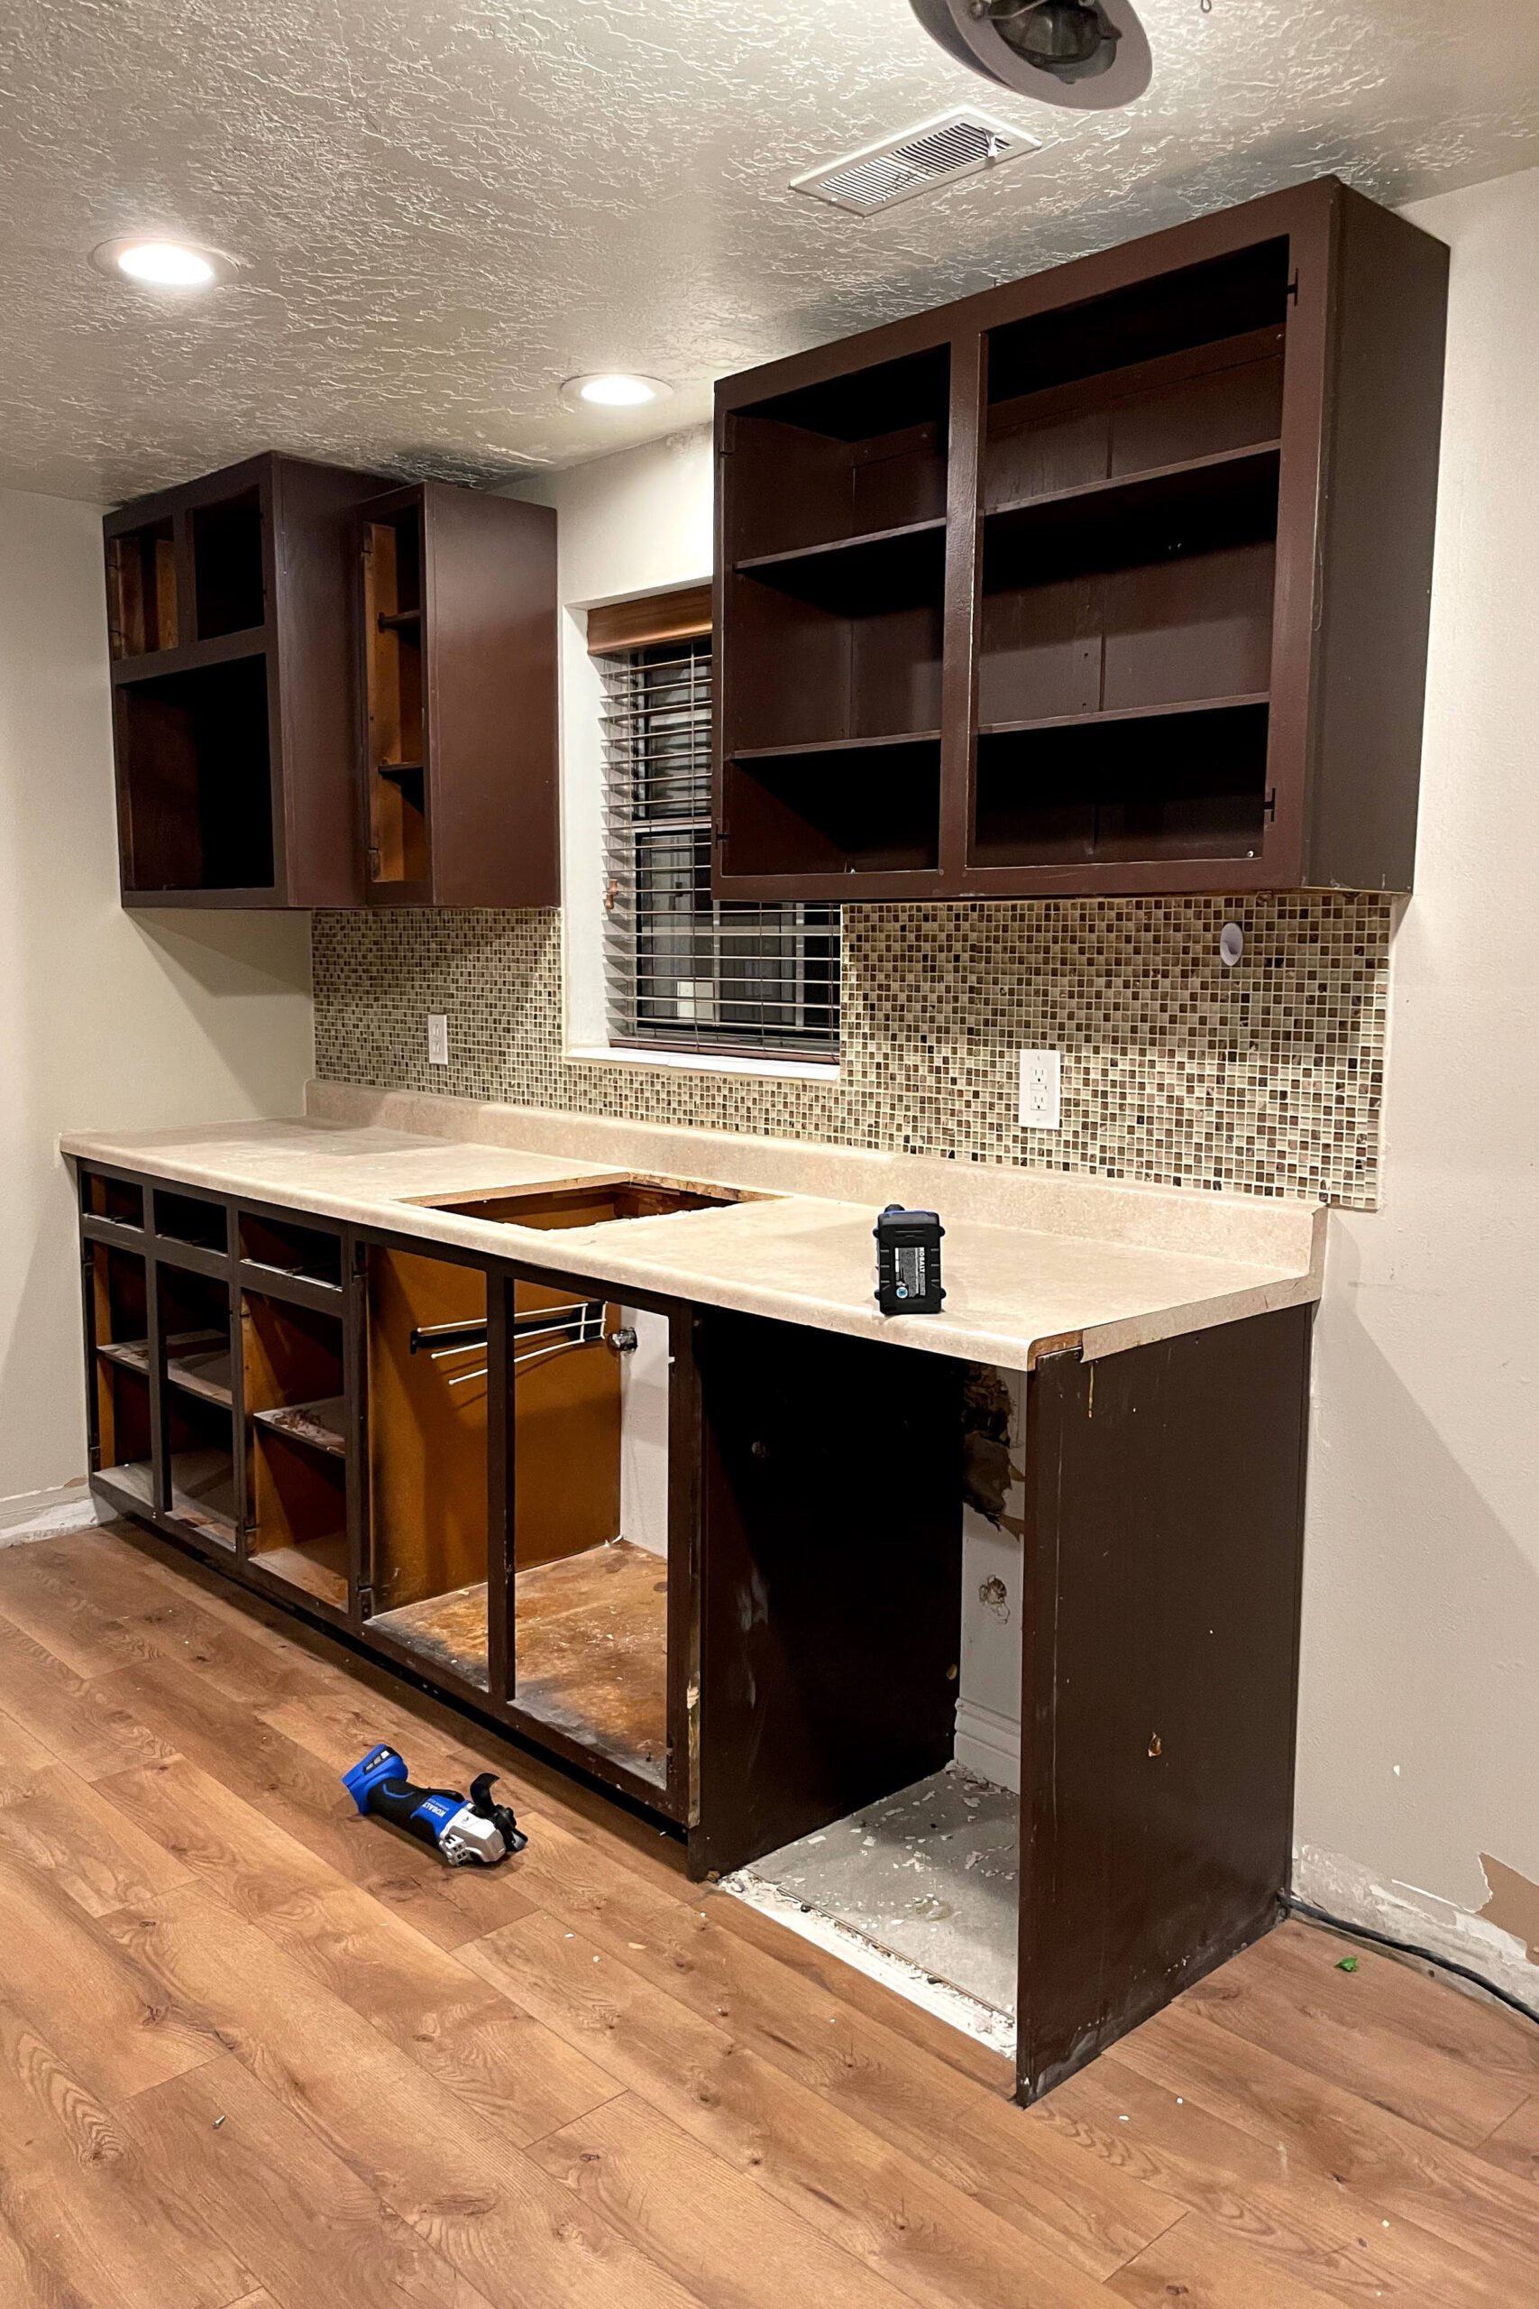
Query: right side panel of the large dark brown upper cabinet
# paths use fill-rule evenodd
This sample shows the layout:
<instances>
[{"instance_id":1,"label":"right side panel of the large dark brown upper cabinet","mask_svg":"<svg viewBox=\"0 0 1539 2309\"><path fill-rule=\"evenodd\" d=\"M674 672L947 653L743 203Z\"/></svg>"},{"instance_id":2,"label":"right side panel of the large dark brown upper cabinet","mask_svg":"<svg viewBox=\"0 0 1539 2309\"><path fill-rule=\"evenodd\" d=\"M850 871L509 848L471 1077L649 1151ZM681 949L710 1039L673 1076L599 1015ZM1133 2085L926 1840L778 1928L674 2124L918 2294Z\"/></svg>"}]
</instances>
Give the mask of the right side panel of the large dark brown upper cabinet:
<instances>
[{"instance_id":1,"label":"right side panel of the large dark brown upper cabinet","mask_svg":"<svg viewBox=\"0 0 1539 2309\"><path fill-rule=\"evenodd\" d=\"M1308 884L1410 889L1449 252L1343 194Z\"/></svg>"}]
</instances>

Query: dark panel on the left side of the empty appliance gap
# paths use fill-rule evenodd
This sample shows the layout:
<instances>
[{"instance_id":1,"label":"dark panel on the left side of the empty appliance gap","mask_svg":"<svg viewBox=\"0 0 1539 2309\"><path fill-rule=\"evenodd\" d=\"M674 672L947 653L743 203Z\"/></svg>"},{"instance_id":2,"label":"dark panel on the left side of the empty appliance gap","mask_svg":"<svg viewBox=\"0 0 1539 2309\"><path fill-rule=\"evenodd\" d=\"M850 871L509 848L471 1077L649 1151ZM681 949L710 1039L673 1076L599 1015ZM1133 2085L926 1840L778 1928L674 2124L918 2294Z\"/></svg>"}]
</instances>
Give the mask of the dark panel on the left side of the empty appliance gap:
<instances>
[{"instance_id":1,"label":"dark panel on the left side of the empty appliance gap","mask_svg":"<svg viewBox=\"0 0 1539 2309\"><path fill-rule=\"evenodd\" d=\"M962 1365L725 1312L697 1355L704 1875L951 1757Z\"/></svg>"}]
</instances>

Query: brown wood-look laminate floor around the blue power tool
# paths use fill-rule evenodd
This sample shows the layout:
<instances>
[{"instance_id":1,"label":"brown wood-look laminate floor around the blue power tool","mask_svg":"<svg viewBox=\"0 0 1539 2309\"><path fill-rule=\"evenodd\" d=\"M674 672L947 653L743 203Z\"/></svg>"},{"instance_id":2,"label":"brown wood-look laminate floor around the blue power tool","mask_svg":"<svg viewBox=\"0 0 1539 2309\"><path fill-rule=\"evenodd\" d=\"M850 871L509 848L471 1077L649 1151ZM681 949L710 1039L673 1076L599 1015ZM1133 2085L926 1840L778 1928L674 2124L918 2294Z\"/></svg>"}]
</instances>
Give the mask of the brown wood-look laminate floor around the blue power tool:
<instances>
[{"instance_id":1,"label":"brown wood-look laminate floor around the blue power tool","mask_svg":"<svg viewBox=\"0 0 1539 2309\"><path fill-rule=\"evenodd\" d=\"M1493 2309L1539 2030L1287 1926L1022 2113L676 1850L115 1533L0 1552L5 2309ZM339 1771L503 1766L445 1870Z\"/></svg>"}]
</instances>

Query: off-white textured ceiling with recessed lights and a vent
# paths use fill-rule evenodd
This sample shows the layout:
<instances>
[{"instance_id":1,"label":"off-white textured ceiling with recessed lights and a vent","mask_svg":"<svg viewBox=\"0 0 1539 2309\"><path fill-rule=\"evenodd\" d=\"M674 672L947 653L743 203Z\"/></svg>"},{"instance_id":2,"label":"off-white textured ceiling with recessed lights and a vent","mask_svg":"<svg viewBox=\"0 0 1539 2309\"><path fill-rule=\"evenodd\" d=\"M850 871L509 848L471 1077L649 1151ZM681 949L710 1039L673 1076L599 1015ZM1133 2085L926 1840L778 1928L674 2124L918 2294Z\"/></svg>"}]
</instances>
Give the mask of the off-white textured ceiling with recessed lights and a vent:
<instances>
[{"instance_id":1,"label":"off-white textured ceiling with recessed lights and a vent","mask_svg":"<svg viewBox=\"0 0 1539 2309\"><path fill-rule=\"evenodd\" d=\"M122 499L279 446L494 480L699 420L718 374L1336 169L1539 162L1539 7L1147 0L1149 95L1066 113L904 0L9 0L0 483ZM1472 30L1474 25L1474 30ZM1043 152L861 222L787 192L974 102ZM238 286L120 286L157 226ZM678 393L570 416L563 376Z\"/></svg>"}]
</instances>

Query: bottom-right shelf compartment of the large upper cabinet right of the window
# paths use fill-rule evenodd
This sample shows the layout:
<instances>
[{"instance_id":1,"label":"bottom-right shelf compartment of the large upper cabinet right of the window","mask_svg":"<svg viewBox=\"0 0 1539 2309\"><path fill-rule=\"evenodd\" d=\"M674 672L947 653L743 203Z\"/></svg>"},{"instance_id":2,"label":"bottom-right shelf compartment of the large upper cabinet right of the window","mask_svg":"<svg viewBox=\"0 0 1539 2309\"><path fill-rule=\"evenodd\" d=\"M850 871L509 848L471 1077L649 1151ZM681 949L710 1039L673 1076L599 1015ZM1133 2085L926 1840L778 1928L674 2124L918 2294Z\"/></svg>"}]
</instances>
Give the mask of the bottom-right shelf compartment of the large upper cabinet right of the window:
<instances>
[{"instance_id":1,"label":"bottom-right shelf compartment of the large upper cabinet right of the window","mask_svg":"<svg viewBox=\"0 0 1539 2309\"><path fill-rule=\"evenodd\" d=\"M1264 829L1264 704L978 739L976 866L1251 859Z\"/></svg>"}]
</instances>

